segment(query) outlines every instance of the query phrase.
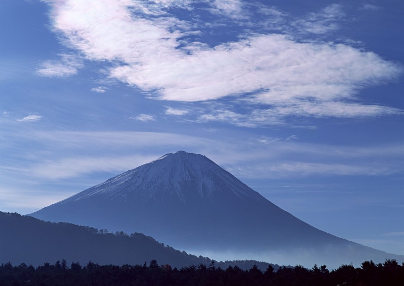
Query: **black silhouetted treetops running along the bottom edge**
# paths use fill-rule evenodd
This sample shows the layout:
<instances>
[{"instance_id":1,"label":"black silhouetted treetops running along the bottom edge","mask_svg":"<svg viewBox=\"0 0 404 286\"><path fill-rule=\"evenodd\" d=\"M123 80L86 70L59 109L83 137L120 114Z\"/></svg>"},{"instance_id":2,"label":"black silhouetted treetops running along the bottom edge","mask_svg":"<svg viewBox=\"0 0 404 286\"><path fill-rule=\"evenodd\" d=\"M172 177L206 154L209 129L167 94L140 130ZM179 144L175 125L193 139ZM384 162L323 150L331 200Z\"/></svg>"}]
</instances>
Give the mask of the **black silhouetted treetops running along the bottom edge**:
<instances>
[{"instance_id":1,"label":"black silhouetted treetops running along the bottom edge","mask_svg":"<svg viewBox=\"0 0 404 286\"><path fill-rule=\"evenodd\" d=\"M191 265L180 269L169 264L159 265L156 260L147 265L99 265L78 261L67 265L65 259L54 264L13 266L10 262L0 265L0 285L136 285L136 286L402 286L404 263L387 259L384 263L365 261L361 267L341 265L328 270L325 265L311 269L300 265L280 267L276 271L269 264L265 271L254 265L248 270L238 266L222 269L212 260L208 266Z\"/></svg>"}]
</instances>

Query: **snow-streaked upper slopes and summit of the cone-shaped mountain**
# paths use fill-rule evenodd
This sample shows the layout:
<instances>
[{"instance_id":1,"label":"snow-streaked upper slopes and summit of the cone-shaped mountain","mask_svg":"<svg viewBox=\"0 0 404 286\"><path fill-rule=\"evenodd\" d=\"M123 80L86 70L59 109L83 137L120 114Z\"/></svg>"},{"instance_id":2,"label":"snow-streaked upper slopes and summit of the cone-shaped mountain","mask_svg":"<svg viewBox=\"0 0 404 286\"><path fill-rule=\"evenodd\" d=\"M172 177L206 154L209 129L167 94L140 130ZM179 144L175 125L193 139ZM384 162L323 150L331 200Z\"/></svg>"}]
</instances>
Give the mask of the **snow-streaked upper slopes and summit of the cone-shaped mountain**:
<instances>
[{"instance_id":1,"label":"snow-streaked upper slopes and summit of the cone-shaped mountain","mask_svg":"<svg viewBox=\"0 0 404 286\"><path fill-rule=\"evenodd\" d=\"M202 155L178 151L129 170L95 187L61 201L92 199L94 196L135 197L158 203L178 199L212 200L214 193L228 193L239 199L259 201L262 196L229 172ZM195 196L195 194L199 194Z\"/></svg>"}]
</instances>

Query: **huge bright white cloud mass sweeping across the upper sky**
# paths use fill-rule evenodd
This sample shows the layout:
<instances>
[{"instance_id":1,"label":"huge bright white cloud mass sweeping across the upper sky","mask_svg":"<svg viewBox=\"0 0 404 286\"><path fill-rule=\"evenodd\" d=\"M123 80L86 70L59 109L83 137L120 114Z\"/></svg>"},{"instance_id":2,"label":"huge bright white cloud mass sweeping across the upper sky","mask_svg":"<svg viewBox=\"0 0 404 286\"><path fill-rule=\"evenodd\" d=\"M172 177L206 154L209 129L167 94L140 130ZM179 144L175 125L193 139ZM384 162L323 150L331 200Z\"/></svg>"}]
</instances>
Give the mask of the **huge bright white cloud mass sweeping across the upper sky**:
<instances>
[{"instance_id":1,"label":"huge bright white cloud mass sweeping across the upper sky","mask_svg":"<svg viewBox=\"0 0 404 286\"><path fill-rule=\"evenodd\" d=\"M293 115L362 117L397 112L355 98L364 87L402 72L397 64L371 52L345 44L303 43L273 33L243 35L215 47L190 42L184 36L198 31L168 13L174 5L191 9L189 1L47 2L53 7L54 29L64 35L66 45L89 60L112 62L111 78L136 86L150 97L205 101L244 96L271 106L250 115L217 110L202 115L200 121L222 118L240 126L257 126L277 124L281 117ZM210 3L230 15L245 9L239 0ZM338 29L343 18L342 6L333 4L294 25L323 34Z\"/></svg>"}]
</instances>

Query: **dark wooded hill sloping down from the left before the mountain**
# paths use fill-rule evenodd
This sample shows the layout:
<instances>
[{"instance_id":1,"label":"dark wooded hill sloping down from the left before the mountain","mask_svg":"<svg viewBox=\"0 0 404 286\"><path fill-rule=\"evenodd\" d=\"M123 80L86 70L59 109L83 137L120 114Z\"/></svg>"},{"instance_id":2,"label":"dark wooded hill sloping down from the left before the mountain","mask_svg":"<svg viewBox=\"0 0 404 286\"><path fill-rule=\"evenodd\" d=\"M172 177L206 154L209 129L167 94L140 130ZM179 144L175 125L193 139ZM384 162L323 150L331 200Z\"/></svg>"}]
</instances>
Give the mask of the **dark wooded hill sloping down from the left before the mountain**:
<instances>
[{"instance_id":1,"label":"dark wooded hill sloping down from the left before the mountain","mask_svg":"<svg viewBox=\"0 0 404 286\"><path fill-rule=\"evenodd\" d=\"M177 268L211 263L209 258L175 250L140 233L112 234L92 227L43 222L16 213L0 212L0 264L11 262L13 265L37 266L62 259L68 263L79 261L87 264L92 261L100 265L143 265L156 259L159 264ZM268 263L257 261L228 261L216 263L216 266L225 268L233 263L242 269L249 269L254 264L263 270L268 267ZM272 266L278 268L278 265Z\"/></svg>"}]
</instances>

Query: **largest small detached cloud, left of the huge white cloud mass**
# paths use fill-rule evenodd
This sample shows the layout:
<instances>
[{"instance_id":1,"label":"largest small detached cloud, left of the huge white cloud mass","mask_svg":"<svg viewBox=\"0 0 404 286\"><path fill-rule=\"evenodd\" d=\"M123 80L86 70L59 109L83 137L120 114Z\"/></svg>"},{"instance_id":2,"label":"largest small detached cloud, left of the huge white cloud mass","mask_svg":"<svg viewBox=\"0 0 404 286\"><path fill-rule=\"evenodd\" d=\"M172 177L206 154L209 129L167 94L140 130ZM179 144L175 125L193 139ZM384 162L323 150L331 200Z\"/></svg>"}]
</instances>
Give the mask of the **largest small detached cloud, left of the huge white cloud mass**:
<instances>
[{"instance_id":1,"label":"largest small detached cloud, left of the huge white cloud mass","mask_svg":"<svg viewBox=\"0 0 404 286\"><path fill-rule=\"evenodd\" d=\"M68 77L75 75L83 63L77 57L61 54L59 61L45 61L36 69L36 73L46 77Z\"/></svg>"}]
</instances>

